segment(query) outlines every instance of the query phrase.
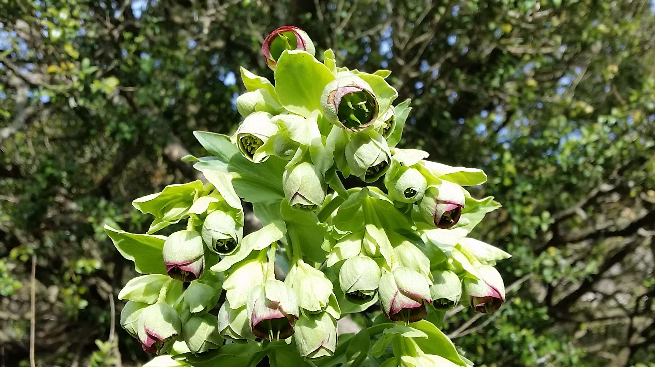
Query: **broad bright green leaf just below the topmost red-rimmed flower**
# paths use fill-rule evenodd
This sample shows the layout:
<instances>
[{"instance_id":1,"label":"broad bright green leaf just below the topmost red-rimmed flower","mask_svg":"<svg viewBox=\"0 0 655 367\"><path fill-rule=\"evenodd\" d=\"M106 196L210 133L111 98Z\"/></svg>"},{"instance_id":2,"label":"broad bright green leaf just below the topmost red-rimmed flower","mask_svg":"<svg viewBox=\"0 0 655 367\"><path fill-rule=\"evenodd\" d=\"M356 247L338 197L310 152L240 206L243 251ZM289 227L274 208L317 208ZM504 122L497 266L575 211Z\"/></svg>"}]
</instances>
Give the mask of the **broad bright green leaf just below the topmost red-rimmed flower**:
<instances>
[{"instance_id":1,"label":"broad bright green leaf just below the topmost red-rimmed flower","mask_svg":"<svg viewBox=\"0 0 655 367\"><path fill-rule=\"evenodd\" d=\"M335 79L330 69L303 50L285 50L274 73L275 91L287 111L309 118L321 111L321 95Z\"/></svg>"}]
</instances>

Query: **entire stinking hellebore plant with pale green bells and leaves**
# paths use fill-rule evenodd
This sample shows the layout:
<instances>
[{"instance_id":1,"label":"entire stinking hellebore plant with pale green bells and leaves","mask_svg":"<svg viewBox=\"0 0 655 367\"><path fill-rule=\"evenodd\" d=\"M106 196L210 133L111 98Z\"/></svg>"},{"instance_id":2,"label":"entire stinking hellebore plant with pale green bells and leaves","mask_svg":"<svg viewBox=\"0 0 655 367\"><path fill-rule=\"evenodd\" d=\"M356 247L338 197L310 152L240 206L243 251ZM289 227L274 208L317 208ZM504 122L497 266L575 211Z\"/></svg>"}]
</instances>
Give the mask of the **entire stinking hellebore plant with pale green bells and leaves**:
<instances>
[{"instance_id":1,"label":"entire stinking hellebore plant with pale green bells and leaves","mask_svg":"<svg viewBox=\"0 0 655 367\"><path fill-rule=\"evenodd\" d=\"M433 323L505 300L494 266L510 254L468 237L500 207L465 188L485 173L396 147L411 108L389 71L319 61L292 26L262 52L272 80L241 68L234 134L196 131L212 156L183 158L206 183L134 200L147 234L105 226L142 274L119 298L121 325L161 355L146 366L472 366ZM346 190L350 175L386 190ZM246 236L242 201L263 225Z\"/></svg>"}]
</instances>

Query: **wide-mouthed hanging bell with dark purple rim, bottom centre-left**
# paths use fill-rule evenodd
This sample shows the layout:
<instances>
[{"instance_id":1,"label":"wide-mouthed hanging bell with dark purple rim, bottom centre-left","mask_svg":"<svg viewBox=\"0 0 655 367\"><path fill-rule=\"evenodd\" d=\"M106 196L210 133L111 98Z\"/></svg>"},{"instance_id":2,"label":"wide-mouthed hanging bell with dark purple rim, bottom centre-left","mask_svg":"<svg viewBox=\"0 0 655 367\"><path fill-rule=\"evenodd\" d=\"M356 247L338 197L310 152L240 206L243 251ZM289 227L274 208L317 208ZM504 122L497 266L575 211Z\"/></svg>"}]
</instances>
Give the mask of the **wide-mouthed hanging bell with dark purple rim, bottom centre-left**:
<instances>
[{"instance_id":1,"label":"wide-mouthed hanging bell with dark purple rim, bottom centre-left","mask_svg":"<svg viewBox=\"0 0 655 367\"><path fill-rule=\"evenodd\" d=\"M257 338L280 340L293 335L298 319L298 300L282 281L269 280L248 295L250 330Z\"/></svg>"}]
</instances>

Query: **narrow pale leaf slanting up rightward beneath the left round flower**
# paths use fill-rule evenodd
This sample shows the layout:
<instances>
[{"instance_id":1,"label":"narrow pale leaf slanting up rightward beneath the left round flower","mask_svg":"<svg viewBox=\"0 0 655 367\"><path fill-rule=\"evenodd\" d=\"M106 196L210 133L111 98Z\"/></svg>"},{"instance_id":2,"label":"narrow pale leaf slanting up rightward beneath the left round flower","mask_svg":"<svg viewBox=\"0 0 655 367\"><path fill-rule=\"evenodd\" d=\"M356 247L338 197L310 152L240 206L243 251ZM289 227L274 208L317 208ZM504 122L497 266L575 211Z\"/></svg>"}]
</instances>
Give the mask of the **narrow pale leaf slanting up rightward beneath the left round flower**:
<instances>
[{"instance_id":1,"label":"narrow pale leaf slanting up rightward beneath the left round flower","mask_svg":"<svg viewBox=\"0 0 655 367\"><path fill-rule=\"evenodd\" d=\"M218 264L212 266L214 273L227 271L231 266L244 260L252 251L263 250L275 241L279 241L286 234L287 228L284 222L276 221L264 226L263 228L248 234L239 244L238 249L233 254L225 256Z\"/></svg>"}]
</instances>

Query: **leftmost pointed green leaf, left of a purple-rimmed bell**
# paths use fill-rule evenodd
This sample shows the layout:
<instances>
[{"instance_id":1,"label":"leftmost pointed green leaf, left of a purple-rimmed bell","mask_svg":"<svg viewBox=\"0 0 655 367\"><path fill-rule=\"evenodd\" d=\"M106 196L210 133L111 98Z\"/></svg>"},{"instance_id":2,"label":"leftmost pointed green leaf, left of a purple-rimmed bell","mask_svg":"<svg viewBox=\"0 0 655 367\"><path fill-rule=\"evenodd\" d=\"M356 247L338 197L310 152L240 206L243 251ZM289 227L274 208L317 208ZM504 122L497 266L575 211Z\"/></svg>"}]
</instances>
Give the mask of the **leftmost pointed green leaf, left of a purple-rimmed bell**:
<instances>
[{"instance_id":1,"label":"leftmost pointed green leaf, left of a purple-rimmed bell","mask_svg":"<svg viewBox=\"0 0 655 367\"><path fill-rule=\"evenodd\" d=\"M141 274L166 274L162 248L165 236L132 234L116 230L105 224L105 232L121 255L134 262L134 270Z\"/></svg>"}]
</instances>

